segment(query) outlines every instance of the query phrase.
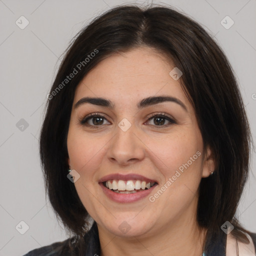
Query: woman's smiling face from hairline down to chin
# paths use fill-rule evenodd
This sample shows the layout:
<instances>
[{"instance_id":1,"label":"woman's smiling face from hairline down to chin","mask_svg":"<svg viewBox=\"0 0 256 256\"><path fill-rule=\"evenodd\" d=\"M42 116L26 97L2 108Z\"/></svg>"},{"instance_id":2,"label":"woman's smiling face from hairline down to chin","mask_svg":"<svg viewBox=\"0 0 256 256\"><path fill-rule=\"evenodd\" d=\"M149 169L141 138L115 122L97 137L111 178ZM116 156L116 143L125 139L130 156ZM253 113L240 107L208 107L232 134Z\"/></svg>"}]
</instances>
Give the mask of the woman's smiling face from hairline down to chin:
<instances>
[{"instance_id":1,"label":"woman's smiling face from hairline down to chin","mask_svg":"<svg viewBox=\"0 0 256 256\"><path fill-rule=\"evenodd\" d=\"M76 88L68 164L99 230L146 236L195 219L209 171L173 68L152 48L136 48L102 60Z\"/></svg>"}]
</instances>

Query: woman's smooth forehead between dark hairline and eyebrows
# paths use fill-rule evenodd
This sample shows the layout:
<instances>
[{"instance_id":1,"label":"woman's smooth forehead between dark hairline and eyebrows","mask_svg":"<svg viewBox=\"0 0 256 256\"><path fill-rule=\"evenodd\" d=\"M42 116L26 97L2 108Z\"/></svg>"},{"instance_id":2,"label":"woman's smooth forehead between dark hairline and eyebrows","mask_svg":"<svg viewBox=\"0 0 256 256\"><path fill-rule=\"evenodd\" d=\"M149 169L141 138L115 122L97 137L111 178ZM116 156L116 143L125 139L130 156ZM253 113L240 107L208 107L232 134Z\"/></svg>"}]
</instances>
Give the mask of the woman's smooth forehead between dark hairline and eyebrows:
<instances>
[{"instance_id":1,"label":"woman's smooth forehead between dark hairline and eyebrows","mask_svg":"<svg viewBox=\"0 0 256 256\"><path fill-rule=\"evenodd\" d=\"M166 94L189 108L179 80L169 72L174 65L150 47L113 54L101 60L78 84L74 103L84 96L107 97L113 102L136 104L139 99Z\"/></svg>"}]
</instances>

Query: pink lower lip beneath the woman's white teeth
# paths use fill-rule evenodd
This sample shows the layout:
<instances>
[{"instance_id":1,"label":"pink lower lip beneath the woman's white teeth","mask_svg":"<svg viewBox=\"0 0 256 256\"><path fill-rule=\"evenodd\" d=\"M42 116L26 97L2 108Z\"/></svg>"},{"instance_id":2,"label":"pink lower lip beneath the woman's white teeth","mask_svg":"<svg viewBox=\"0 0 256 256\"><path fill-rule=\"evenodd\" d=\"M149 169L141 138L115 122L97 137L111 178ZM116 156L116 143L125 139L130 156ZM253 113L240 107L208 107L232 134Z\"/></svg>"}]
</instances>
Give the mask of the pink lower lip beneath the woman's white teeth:
<instances>
[{"instance_id":1,"label":"pink lower lip beneath the woman's white teeth","mask_svg":"<svg viewBox=\"0 0 256 256\"><path fill-rule=\"evenodd\" d=\"M102 182L100 182L99 185L101 186L105 195L109 199L111 199L115 202L135 202L135 201L138 201L138 200L146 197L147 195L149 195L151 193L151 191L154 189L154 187L156 186L156 185L153 185L149 189L146 189L144 191L139 191L139 192L136 192L136 193L122 194L122 193L113 192L112 190L106 188L103 185Z\"/></svg>"}]
</instances>

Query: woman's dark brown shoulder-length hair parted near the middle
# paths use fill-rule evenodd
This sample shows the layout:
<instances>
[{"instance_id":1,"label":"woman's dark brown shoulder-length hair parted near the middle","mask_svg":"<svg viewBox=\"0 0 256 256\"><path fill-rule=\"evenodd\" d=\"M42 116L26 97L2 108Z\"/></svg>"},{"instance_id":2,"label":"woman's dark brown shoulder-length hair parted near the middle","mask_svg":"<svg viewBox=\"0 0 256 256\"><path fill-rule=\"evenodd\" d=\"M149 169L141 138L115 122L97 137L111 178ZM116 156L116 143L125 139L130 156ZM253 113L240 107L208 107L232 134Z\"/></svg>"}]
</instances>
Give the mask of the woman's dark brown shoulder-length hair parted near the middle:
<instances>
[{"instance_id":1,"label":"woman's dark brown shoulder-length hair parted near the middle","mask_svg":"<svg viewBox=\"0 0 256 256\"><path fill-rule=\"evenodd\" d=\"M246 230L234 216L248 176L251 134L236 79L224 53L202 26L163 6L112 8L70 43L50 90L40 133L45 189L56 216L78 240L88 229L88 213L66 177L66 138L76 86L103 58L140 46L170 57L182 71L181 86L194 107L204 148L210 146L215 157L214 174L199 185L198 225L214 237L228 220L234 235L246 240L240 231ZM93 57L85 61L88 55ZM74 69L77 74L63 83Z\"/></svg>"}]
</instances>

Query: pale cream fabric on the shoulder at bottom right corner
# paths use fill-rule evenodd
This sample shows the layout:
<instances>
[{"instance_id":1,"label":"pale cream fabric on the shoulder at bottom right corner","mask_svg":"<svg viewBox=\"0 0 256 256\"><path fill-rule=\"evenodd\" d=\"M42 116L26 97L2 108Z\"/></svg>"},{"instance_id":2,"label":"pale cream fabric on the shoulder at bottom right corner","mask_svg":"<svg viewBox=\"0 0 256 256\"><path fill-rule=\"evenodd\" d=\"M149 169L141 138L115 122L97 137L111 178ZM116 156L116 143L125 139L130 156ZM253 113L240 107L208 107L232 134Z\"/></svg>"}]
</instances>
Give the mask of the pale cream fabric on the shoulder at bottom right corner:
<instances>
[{"instance_id":1,"label":"pale cream fabric on the shoulder at bottom right corner","mask_svg":"<svg viewBox=\"0 0 256 256\"><path fill-rule=\"evenodd\" d=\"M240 256L254 256L256 249L256 233L245 233L247 236L249 243L243 243L241 241L237 241L231 233L227 235L226 239L226 256L237 255L236 251L238 248L238 255Z\"/></svg>"}]
</instances>

